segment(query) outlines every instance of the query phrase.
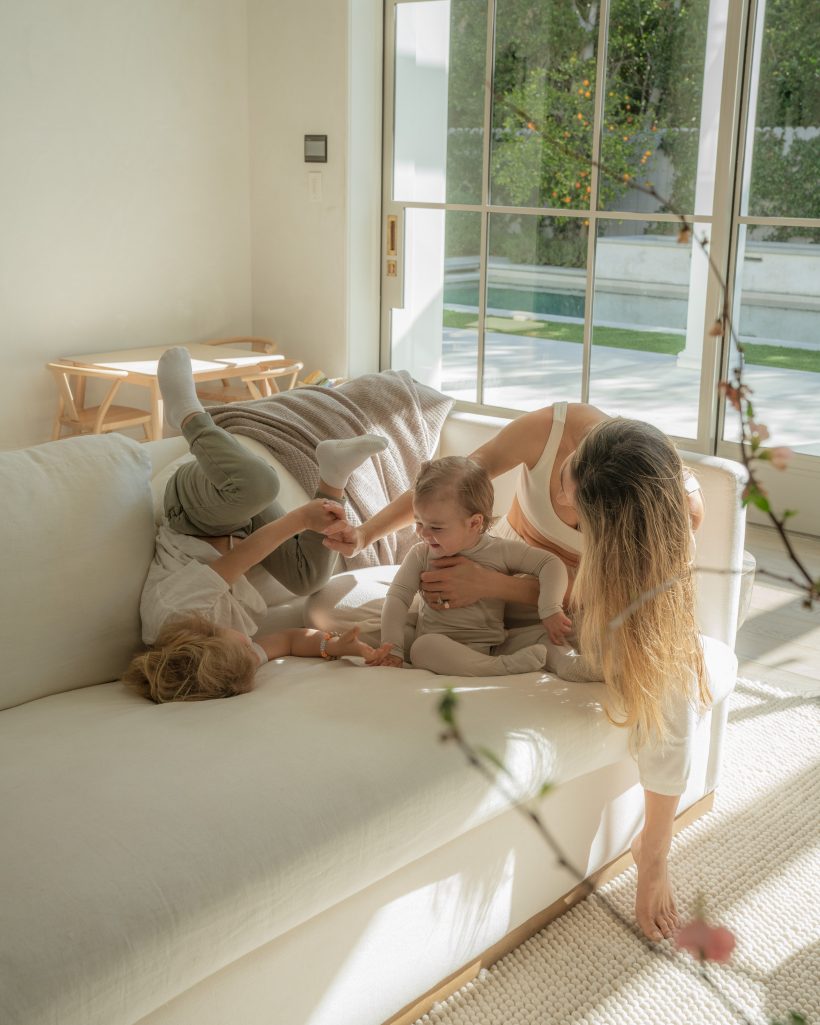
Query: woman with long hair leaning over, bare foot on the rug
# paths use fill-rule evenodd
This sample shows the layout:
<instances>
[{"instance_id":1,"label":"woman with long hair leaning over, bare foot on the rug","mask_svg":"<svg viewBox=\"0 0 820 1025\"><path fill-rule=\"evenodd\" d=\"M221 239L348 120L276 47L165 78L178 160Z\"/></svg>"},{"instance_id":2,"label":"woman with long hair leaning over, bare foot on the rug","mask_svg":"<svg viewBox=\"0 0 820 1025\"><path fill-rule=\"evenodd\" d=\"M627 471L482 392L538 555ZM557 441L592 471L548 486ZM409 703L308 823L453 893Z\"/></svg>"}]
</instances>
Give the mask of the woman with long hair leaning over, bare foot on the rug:
<instances>
[{"instance_id":1,"label":"woman with long hair leaning over, bare foot on the rug","mask_svg":"<svg viewBox=\"0 0 820 1025\"><path fill-rule=\"evenodd\" d=\"M639 421L611 420L581 403L519 417L471 458L491 478L523 464L498 532L555 551L571 577L578 571L581 649L601 658L611 713L631 731L645 792L644 828L632 847L636 916L650 939L668 937L678 914L667 857L696 704L708 697L689 572L692 531L703 516L697 481L685 473L661 432ZM402 496L361 527L331 525L326 543L343 555L359 550L412 522L411 502L410 494ZM620 510L617 516L614 509ZM579 570L581 532L585 551ZM609 581L615 566L618 579ZM459 608L492 597L532 607L538 584L454 557L425 573L422 588L437 606L448 602ZM636 594L646 600L613 630L610 623L626 613ZM667 634L671 643L661 643ZM649 698L642 700L646 687Z\"/></svg>"}]
</instances>

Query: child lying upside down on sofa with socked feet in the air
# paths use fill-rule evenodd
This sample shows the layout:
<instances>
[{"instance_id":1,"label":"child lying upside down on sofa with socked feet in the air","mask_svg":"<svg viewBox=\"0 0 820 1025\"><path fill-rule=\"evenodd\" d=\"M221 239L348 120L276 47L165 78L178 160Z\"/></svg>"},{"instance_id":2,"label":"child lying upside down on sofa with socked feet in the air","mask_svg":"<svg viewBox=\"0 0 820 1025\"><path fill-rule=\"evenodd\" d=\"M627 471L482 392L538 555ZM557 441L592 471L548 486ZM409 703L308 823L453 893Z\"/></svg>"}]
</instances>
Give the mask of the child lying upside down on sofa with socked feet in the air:
<instances>
[{"instance_id":1,"label":"child lying upside down on sofa with socked feet in the air","mask_svg":"<svg viewBox=\"0 0 820 1025\"><path fill-rule=\"evenodd\" d=\"M285 512L276 471L217 427L200 403L188 350L163 354L159 383L165 415L195 459L165 491L165 521L142 588L139 611L148 651L124 676L156 702L230 697L250 690L260 664L285 655L377 658L358 628L340 637L289 629L252 640L264 600L245 574L261 565L294 593L326 582L336 560L323 528L344 519L350 475L386 447L376 435L322 442L313 501Z\"/></svg>"}]
</instances>

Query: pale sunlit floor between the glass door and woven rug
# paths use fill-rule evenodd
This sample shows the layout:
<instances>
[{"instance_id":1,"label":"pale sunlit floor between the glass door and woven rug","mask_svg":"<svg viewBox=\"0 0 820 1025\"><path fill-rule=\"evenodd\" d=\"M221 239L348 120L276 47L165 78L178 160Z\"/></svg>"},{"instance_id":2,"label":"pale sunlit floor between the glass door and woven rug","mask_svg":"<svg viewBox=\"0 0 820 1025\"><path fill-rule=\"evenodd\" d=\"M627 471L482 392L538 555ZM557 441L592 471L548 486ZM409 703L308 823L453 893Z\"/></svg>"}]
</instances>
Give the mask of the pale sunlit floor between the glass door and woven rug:
<instances>
[{"instance_id":1,"label":"pale sunlit floor between the glass door and woven rug","mask_svg":"<svg viewBox=\"0 0 820 1025\"><path fill-rule=\"evenodd\" d=\"M806 568L820 577L820 540L791 535ZM820 695L820 603L804 609L796 589L763 572L796 577L777 533L749 524L745 547L757 563L751 606L738 632L739 674L798 694Z\"/></svg>"}]
</instances>

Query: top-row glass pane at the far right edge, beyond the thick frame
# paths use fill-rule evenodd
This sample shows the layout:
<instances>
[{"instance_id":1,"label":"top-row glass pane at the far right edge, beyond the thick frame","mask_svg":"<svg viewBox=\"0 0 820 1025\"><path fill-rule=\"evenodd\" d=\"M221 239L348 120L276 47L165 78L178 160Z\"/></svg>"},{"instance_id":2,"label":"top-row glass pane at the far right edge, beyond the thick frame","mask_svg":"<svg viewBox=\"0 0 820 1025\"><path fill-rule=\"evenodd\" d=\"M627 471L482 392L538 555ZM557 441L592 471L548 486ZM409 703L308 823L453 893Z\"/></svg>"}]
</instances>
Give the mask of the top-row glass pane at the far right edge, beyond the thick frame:
<instances>
[{"instance_id":1,"label":"top-row glass pane at the far right edge, beyond the thick frame","mask_svg":"<svg viewBox=\"0 0 820 1025\"><path fill-rule=\"evenodd\" d=\"M768 0L765 9L744 212L820 217L820 11L806 0Z\"/></svg>"}]
</instances>

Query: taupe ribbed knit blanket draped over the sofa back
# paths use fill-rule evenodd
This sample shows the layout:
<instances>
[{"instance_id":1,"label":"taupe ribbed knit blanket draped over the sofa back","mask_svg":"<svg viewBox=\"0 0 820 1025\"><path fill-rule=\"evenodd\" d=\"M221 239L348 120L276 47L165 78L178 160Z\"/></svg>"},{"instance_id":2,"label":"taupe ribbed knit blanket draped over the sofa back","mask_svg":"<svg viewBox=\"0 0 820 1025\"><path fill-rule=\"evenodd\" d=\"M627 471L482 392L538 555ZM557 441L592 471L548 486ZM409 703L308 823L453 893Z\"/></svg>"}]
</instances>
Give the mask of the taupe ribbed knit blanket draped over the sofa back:
<instances>
[{"instance_id":1,"label":"taupe ribbed knit blanket draped over the sofa back","mask_svg":"<svg viewBox=\"0 0 820 1025\"><path fill-rule=\"evenodd\" d=\"M212 406L215 423L273 452L309 494L319 484L316 446L330 438L382 435L389 446L368 459L345 488L347 520L363 523L413 484L439 444L453 400L406 370L364 374L334 388L298 387L270 399ZM347 569L401 563L415 542L411 527L388 534L352 559Z\"/></svg>"}]
</instances>

